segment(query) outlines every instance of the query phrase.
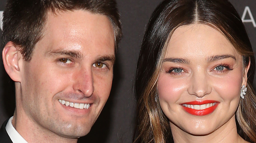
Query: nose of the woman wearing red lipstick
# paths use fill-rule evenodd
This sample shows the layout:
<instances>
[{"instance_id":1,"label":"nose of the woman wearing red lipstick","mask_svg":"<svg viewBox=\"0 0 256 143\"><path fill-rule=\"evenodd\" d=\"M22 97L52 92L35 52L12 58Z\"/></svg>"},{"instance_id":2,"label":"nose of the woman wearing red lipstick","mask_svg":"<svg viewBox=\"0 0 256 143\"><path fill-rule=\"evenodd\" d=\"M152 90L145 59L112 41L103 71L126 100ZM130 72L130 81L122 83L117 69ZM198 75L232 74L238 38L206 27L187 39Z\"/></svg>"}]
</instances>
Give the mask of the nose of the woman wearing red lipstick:
<instances>
[{"instance_id":1,"label":"nose of the woman wearing red lipstick","mask_svg":"<svg viewBox=\"0 0 256 143\"><path fill-rule=\"evenodd\" d=\"M212 87L209 84L207 73L195 72L192 74L189 87L187 89L190 95L196 95L197 97L203 97L204 95L210 94Z\"/></svg>"}]
</instances>

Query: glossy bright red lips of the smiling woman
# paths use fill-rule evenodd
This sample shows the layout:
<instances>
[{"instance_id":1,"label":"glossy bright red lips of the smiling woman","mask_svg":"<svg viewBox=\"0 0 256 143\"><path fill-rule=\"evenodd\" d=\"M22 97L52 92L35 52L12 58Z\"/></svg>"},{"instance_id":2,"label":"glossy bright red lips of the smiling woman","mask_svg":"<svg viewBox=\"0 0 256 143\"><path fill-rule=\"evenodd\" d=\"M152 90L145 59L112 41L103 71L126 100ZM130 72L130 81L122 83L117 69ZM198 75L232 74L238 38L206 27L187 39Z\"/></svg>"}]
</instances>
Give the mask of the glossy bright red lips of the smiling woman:
<instances>
[{"instance_id":1,"label":"glossy bright red lips of the smiling woman","mask_svg":"<svg viewBox=\"0 0 256 143\"><path fill-rule=\"evenodd\" d=\"M214 104L212 105L211 107L208 107L208 108L205 108L205 109L202 109L202 110L197 110L197 109L192 109L190 107L185 107L184 104L187 104L187 105L203 105L203 104ZM217 106L219 105L220 102L218 101L215 101L215 100L204 100L204 101L191 101L191 102L186 102L186 103L181 103L183 109L188 112L189 114L192 114L192 115L197 115L197 116L203 116L203 115L207 115L207 114L210 114L212 113L216 108Z\"/></svg>"}]
</instances>

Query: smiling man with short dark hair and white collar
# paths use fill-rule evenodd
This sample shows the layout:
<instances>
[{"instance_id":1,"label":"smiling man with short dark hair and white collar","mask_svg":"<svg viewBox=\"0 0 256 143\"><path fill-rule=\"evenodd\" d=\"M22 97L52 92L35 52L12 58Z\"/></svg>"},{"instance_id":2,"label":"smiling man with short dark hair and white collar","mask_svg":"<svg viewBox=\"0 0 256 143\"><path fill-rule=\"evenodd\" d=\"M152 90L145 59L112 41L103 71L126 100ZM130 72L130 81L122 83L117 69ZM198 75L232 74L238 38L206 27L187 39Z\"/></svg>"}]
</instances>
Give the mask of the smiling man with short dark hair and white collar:
<instances>
[{"instance_id":1,"label":"smiling man with short dark hair and white collar","mask_svg":"<svg viewBox=\"0 0 256 143\"><path fill-rule=\"evenodd\" d=\"M10 0L3 63L15 82L2 142L77 142L110 94L121 27L114 0Z\"/></svg>"}]
</instances>

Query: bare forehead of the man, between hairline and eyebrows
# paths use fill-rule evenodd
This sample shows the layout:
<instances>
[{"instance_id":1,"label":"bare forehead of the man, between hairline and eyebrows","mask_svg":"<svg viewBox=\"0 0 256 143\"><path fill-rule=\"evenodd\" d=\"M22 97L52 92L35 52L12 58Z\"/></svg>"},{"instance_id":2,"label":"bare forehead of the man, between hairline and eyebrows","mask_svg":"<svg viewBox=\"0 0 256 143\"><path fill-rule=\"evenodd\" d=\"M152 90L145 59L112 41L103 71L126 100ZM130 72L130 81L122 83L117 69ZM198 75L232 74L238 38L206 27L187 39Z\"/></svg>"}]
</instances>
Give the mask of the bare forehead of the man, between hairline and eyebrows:
<instances>
[{"instance_id":1,"label":"bare forehead of the man, between hairline and eyebrows","mask_svg":"<svg viewBox=\"0 0 256 143\"><path fill-rule=\"evenodd\" d=\"M87 55L83 55L85 53L81 51L86 48L90 53L114 55L114 30L107 16L86 10L68 10L57 14L48 12L48 14L43 38L38 41L38 44L47 48L46 51L83 57ZM47 53L54 52L45 54Z\"/></svg>"}]
</instances>

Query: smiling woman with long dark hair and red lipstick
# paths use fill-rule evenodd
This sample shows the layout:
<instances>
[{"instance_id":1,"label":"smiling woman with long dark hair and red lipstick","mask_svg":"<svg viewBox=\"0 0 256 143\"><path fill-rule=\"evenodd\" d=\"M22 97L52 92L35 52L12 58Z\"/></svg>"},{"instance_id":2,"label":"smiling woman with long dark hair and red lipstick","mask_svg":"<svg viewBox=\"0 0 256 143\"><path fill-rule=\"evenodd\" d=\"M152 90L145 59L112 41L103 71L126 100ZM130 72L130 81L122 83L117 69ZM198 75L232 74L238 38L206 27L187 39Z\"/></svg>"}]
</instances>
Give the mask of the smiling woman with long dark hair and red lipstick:
<instances>
[{"instance_id":1,"label":"smiling woman with long dark hair and red lipstick","mask_svg":"<svg viewBox=\"0 0 256 143\"><path fill-rule=\"evenodd\" d=\"M139 54L134 142L256 142L254 67L230 2L163 1Z\"/></svg>"}]
</instances>

